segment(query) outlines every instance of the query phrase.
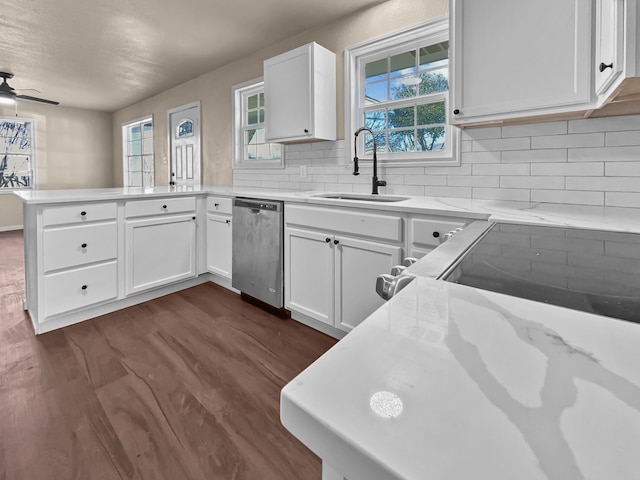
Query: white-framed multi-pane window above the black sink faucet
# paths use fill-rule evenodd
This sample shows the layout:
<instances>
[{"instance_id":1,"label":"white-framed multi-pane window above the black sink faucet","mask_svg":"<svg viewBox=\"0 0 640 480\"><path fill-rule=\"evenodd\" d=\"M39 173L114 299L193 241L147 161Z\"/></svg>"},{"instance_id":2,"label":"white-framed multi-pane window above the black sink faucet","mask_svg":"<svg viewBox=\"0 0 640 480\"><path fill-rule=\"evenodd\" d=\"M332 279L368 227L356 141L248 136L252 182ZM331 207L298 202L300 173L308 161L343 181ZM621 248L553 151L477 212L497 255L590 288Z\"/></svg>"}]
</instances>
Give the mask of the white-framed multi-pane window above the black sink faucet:
<instances>
[{"instance_id":1,"label":"white-framed multi-pane window above the black sink faucet","mask_svg":"<svg viewBox=\"0 0 640 480\"><path fill-rule=\"evenodd\" d=\"M457 164L458 130L448 124L449 34L440 18L345 52L347 125L373 130L385 166ZM353 134L349 155L354 149ZM358 136L371 158L373 138Z\"/></svg>"}]
</instances>

